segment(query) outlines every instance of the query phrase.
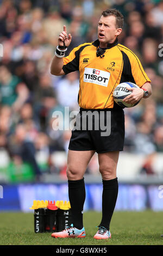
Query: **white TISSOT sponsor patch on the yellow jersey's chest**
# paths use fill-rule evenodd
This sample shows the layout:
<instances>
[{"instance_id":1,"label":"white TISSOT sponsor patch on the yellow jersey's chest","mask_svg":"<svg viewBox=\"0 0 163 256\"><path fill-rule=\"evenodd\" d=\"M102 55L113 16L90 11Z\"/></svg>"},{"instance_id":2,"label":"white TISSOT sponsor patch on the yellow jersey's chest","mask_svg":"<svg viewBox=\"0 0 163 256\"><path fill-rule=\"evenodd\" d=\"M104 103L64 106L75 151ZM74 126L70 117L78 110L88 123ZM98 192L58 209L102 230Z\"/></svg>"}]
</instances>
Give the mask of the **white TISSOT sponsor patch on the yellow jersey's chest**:
<instances>
[{"instance_id":1,"label":"white TISSOT sponsor patch on the yellow jersey's chest","mask_svg":"<svg viewBox=\"0 0 163 256\"><path fill-rule=\"evenodd\" d=\"M95 83L99 86L108 86L110 78L110 73L98 70L98 69L91 69L91 68L85 68L84 70L84 79L83 81L86 83Z\"/></svg>"}]
</instances>

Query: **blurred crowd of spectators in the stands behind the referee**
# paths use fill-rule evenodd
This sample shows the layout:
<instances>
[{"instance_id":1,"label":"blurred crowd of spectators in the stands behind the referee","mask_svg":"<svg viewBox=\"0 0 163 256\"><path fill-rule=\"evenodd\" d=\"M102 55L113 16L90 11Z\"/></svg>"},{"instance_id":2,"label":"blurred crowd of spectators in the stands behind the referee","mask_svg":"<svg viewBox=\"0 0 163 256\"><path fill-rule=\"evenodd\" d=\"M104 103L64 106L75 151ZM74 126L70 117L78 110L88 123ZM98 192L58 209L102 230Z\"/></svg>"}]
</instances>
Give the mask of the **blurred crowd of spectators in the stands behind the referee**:
<instances>
[{"instance_id":1,"label":"blurred crowd of spectators in the stands behind the referee","mask_svg":"<svg viewBox=\"0 0 163 256\"><path fill-rule=\"evenodd\" d=\"M107 8L124 15L118 41L140 58L153 88L152 97L124 110L124 150L147 156L163 152L163 1L0 0L0 147L15 164L29 160L36 175L41 172L36 153L46 156L48 172L64 172L51 156L67 152L71 130L55 129L53 113L64 117L65 107L79 109L78 72L50 74L58 35L64 25L72 34L67 53L96 40L99 17Z\"/></svg>"}]
</instances>

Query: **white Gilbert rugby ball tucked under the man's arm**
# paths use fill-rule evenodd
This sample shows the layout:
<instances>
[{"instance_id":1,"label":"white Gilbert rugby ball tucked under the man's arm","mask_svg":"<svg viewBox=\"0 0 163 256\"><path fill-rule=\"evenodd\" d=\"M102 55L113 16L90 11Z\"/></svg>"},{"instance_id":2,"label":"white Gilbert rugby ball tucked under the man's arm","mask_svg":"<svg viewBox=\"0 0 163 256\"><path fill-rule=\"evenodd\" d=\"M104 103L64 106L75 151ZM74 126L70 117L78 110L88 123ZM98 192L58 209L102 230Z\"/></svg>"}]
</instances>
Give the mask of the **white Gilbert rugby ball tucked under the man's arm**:
<instances>
[{"instance_id":1,"label":"white Gilbert rugby ball tucked under the man's arm","mask_svg":"<svg viewBox=\"0 0 163 256\"><path fill-rule=\"evenodd\" d=\"M127 87L128 88L129 87L140 88L135 83L131 83L131 82L120 83L120 84L118 84L118 86L116 86L116 88L114 89L114 92L113 92L114 101L122 108L134 107L139 103L139 101L138 101L135 104L129 104L129 103L126 103L123 101L123 99L125 97L127 97L129 94L131 94L131 91L128 90Z\"/></svg>"}]
</instances>

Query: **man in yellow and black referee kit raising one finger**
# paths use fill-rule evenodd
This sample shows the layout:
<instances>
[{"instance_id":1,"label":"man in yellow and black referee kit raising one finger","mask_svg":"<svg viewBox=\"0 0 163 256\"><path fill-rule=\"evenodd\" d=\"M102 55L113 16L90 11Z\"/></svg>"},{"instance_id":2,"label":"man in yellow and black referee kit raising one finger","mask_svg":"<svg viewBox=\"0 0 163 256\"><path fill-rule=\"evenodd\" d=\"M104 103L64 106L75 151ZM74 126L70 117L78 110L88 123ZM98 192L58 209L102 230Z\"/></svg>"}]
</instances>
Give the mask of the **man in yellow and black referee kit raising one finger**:
<instances>
[{"instance_id":1,"label":"man in yellow and black referee kit raising one finger","mask_svg":"<svg viewBox=\"0 0 163 256\"><path fill-rule=\"evenodd\" d=\"M124 144L124 112L113 99L115 87L122 82L133 82L140 88L131 88L131 94L124 101L136 103L142 97L152 94L151 80L142 68L140 60L127 47L118 44L121 34L123 15L116 9L103 11L98 22L98 39L86 42L74 48L65 57L65 51L72 40L66 27L58 38L58 47L51 65L53 75L65 75L79 70L80 106L79 119L83 121L85 113L104 113L104 122L110 120L110 133L102 136L103 129L74 129L70 139L67 164L68 195L72 209L73 225L53 237L84 237L83 206L85 201L84 173L91 157L98 153L99 172L102 175L102 220L95 239L108 239L110 221L114 212L118 181L116 167L119 151ZM63 92L64 93L64 92ZM107 119L110 113L110 119ZM92 118L95 126L99 119ZM93 126L93 127L94 127Z\"/></svg>"}]
</instances>

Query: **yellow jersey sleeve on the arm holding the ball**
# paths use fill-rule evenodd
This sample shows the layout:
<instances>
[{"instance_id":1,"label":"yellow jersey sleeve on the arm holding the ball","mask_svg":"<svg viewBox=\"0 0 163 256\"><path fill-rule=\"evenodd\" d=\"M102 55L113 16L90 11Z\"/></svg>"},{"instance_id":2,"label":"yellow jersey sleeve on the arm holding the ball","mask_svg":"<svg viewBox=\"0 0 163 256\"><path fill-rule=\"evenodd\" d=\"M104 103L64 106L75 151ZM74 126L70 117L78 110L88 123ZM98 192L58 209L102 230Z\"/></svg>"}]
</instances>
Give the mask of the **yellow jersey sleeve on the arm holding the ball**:
<instances>
[{"instance_id":1,"label":"yellow jersey sleeve on the arm holding the ball","mask_svg":"<svg viewBox=\"0 0 163 256\"><path fill-rule=\"evenodd\" d=\"M131 73L137 86L142 87L146 82L151 82L145 70L143 70L139 58L133 52L128 53L128 57L131 65Z\"/></svg>"}]
</instances>

